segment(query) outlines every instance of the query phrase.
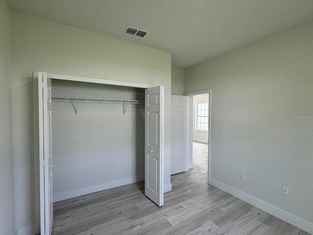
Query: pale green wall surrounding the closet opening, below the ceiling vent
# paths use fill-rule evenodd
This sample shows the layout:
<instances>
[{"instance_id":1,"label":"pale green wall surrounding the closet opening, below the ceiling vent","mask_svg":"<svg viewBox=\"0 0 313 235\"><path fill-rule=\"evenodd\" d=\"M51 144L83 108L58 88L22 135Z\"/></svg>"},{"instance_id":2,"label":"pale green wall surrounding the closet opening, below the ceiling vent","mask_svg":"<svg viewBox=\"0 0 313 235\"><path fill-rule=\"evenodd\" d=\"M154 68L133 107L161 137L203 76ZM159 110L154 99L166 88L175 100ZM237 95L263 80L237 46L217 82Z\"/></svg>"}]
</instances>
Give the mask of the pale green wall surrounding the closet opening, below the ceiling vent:
<instances>
[{"instance_id":1,"label":"pale green wall surrounding the closet opening, below the ceiling vent","mask_svg":"<svg viewBox=\"0 0 313 235\"><path fill-rule=\"evenodd\" d=\"M164 183L170 184L171 54L12 12L17 227L35 222L32 71L165 86Z\"/></svg>"}]
</instances>

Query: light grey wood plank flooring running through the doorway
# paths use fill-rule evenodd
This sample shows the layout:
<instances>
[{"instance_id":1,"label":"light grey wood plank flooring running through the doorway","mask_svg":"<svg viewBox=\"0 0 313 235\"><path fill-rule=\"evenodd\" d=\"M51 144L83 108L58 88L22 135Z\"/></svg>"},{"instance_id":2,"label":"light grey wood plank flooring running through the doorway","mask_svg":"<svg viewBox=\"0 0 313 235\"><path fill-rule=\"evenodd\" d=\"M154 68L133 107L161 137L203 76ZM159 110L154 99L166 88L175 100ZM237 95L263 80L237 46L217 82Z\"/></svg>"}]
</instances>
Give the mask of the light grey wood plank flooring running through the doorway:
<instances>
[{"instance_id":1,"label":"light grey wood plank flooring running through the doorway","mask_svg":"<svg viewBox=\"0 0 313 235\"><path fill-rule=\"evenodd\" d=\"M309 235L207 184L207 144L194 142L194 168L171 176L158 207L144 182L54 203L52 235Z\"/></svg>"}]
</instances>

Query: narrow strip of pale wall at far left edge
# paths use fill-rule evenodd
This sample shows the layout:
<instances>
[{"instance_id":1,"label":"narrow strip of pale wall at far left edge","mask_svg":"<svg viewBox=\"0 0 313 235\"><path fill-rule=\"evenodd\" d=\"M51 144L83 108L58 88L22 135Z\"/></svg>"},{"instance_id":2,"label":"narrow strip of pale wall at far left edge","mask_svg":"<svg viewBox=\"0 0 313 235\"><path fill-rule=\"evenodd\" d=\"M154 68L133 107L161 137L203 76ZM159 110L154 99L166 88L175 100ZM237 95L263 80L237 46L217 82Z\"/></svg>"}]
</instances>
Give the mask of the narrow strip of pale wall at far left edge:
<instances>
[{"instance_id":1,"label":"narrow strip of pale wall at far left edge","mask_svg":"<svg viewBox=\"0 0 313 235\"><path fill-rule=\"evenodd\" d=\"M9 89L11 13L0 0L0 234L13 234Z\"/></svg>"}]
</instances>

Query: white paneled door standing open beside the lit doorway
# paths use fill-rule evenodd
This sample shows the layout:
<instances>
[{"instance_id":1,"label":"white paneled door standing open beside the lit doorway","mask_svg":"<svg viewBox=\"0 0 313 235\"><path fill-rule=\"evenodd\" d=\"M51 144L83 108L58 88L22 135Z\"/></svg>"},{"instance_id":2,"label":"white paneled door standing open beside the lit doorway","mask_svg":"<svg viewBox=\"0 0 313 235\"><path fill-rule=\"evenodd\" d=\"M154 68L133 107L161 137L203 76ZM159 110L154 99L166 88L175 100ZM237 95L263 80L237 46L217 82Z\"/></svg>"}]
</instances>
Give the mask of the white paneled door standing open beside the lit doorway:
<instances>
[{"instance_id":1,"label":"white paneled door standing open beside the lit doorway","mask_svg":"<svg viewBox=\"0 0 313 235\"><path fill-rule=\"evenodd\" d=\"M183 95L171 96L171 175L187 170L186 100Z\"/></svg>"}]
</instances>

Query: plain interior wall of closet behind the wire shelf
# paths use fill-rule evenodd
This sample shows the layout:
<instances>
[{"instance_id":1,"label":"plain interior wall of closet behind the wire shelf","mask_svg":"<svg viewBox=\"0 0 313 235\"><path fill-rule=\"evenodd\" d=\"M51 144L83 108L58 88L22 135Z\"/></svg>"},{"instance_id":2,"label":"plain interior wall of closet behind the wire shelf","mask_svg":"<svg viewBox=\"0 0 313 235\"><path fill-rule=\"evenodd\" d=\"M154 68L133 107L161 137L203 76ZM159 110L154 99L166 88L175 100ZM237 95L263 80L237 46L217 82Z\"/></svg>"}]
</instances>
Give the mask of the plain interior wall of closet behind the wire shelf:
<instances>
[{"instance_id":1,"label":"plain interior wall of closet behind the wire shelf","mask_svg":"<svg viewBox=\"0 0 313 235\"><path fill-rule=\"evenodd\" d=\"M144 89L52 79L52 97L144 100ZM144 180L144 103L52 101L53 201Z\"/></svg>"}]
</instances>

